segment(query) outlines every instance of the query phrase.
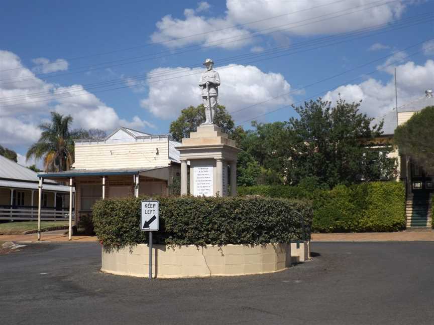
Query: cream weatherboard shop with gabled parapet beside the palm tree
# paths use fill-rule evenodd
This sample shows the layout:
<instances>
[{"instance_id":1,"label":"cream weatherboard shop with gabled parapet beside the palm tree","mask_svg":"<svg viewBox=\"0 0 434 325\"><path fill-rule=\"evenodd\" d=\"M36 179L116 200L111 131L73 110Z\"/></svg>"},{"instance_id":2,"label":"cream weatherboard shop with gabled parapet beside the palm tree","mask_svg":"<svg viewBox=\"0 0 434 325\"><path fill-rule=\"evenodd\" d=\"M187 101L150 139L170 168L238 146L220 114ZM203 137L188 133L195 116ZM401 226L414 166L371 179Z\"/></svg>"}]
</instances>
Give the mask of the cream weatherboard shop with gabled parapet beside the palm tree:
<instances>
[{"instance_id":1,"label":"cream weatherboard shop with gabled parapet beside the palm tree","mask_svg":"<svg viewBox=\"0 0 434 325\"><path fill-rule=\"evenodd\" d=\"M75 140L70 171L40 173L75 188L76 222L90 215L97 200L139 195L168 195L179 176L179 142L170 135L152 135L120 127L105 139ZM43 188L45 185L43 186Z\"/></svg>"}]
</instances>

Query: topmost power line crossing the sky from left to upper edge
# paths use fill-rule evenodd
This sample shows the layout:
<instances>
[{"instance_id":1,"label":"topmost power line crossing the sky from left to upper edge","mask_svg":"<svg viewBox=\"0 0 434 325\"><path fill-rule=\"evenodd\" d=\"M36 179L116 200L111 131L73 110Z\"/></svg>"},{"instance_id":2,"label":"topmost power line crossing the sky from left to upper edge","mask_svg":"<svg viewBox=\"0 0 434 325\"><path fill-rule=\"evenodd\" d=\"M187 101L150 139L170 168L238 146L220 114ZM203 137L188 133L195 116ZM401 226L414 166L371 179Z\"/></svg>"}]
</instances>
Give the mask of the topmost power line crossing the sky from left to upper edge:
<instances>
[{"instance_id":1,"label":"topmost power line crossing the sky from left to upper edge","mask_svg":"<svg viewBox=\"0 0 434 325\"><path fill-rule=\"evenodd\" d=\"M327 3L327 4L316 6L316 7L306 8L306 9L303 9L303 10L298 10L298 11L294 11L294 12L290 12L290 13L286 13L286 14L282 14L282 15L268 17L268 18L264 18L264 19L261 19L261 20L251 21L251 22L247 22L247 23L244 23L244 24L238 24L238 25L233 25L233 26L221 28L221 29L215 29L215 30L211 30L211 31L208 31L208 32L196 33L196 34L192 34L192 35L182 36L182 37L179 37L179 38L174 38L174 39L171 39L171 40L160 41L160 42L153 42L151 44L144 44L144 45L141 45L141 46L124 48L124 49L119 49L119 50L114 50L114 51L109 51L109 52L96 53L96 54L92 54L92 55L81 56L81 57L74 57L74 58L66 58L65 60L74 61L74 60L79 60L79 59L84 59L84 58L89 58L89 57L96 57L96 56L102 56L102 55L107 55L107 54L119 53L119 52L122 52L122 51L134 50L134 49L143 48L143 47L150 47L150 46L154 46L154 45L158 45L158 44L175 42L175 41L179 41L179 40L190 38L190 37L205 35L205 34L214 33L214 32L220 32L220 31L224 31L224 30L228 30L228 29L232 29L232 28L242 27L242 26L246 26L246 25L250 25L250 24L255 24L255 23L260 23L260 22L267 21L267 20L276 19L276 18L279 18L279 17L284 17L284 16L287 16L287 15L292 15L292 14L301 13L301 12L305 12L305 11L309 11L309 10L313 10L313 9L318 9L318 8L321 8L321 7L327 7L327 6L331 6L331 5L334 5L334 4L337 4L337 3L341 3L341 2L345 2L345 1L347 1L347 0L338 0L338 1L335 1L335 2ZM379 1L384 1L384 0L379 0ZM375 3L375 2L372 2L372 3ZM161 29L161 30L165 30L165 29ZM39 65L33 66L33 68L43 67L45 65L50 65L50 64L53 64L53 63L39 64ZM0 72L17 70L17 69L25 69L25 68L21 68L20 67L20 68L5 69L5 70L0 70Z\"/></svg>"}]
</instances>

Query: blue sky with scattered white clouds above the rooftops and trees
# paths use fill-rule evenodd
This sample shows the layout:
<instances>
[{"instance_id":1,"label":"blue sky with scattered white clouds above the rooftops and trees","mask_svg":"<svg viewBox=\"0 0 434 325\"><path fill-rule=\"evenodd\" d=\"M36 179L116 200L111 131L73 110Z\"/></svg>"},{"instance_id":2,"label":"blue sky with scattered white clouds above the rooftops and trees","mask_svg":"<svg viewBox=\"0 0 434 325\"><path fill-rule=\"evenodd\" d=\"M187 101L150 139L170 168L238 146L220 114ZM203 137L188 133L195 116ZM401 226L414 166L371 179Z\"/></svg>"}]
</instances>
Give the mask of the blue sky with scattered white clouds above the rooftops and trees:
<instances>
[{"instance_id":1,"label":"blue sky with scattered white clouds above the rooftops and trees","mask_svg":"<svg viewBox=\"0 0 434 325\"><path fill-rule=\"evenodd\" d=\"M434 88L434 0L29 2L0 11L0 144L19 162L50 112L74 128L166 134L201 103L211 58L237 125L292 105L360 101L371 117Z\"/></svg>"}]
</instances>

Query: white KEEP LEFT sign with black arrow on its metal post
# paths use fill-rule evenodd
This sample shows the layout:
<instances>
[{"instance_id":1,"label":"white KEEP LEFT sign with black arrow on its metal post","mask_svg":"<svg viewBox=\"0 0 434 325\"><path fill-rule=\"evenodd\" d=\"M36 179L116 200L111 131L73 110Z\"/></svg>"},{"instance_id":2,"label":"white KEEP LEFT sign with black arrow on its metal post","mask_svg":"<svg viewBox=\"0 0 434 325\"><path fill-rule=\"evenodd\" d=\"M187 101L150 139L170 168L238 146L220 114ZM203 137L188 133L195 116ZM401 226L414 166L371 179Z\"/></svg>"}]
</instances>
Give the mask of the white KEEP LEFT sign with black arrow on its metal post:
<instances>
[{"instance_id":1,"label":"white KEEP LEFT sign with black arrow on its metal post","mask_svg":"<svg viewBox=\"0 0 434 325\"><path fill-rule=\"evenodd\" d=\"M152 279L152 232L158 231L160 226L160 202L142 201L140 205L140 229L149 231L149 279Z\"/></svg>"}]
</instances>

